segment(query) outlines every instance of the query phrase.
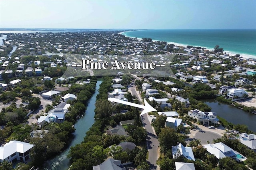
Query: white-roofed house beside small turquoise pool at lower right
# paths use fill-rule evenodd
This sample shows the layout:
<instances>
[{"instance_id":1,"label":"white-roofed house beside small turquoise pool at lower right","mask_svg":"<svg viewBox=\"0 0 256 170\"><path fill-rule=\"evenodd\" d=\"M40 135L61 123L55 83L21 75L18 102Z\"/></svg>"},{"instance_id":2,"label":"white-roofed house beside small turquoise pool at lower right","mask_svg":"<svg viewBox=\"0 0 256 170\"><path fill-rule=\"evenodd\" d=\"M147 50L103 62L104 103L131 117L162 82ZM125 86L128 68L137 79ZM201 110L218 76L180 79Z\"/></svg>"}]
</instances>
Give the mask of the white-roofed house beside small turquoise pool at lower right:
<instances>
[{"instance_id":1,"label":"white-roofed house beside small turquoise pool at lower right","mask_svg":"<svg viewBox=\"0 0 256 170\"><path fill-rule=\"evenodd\" d=\"M206 148L210 154L214 154L217 159L226 157L230 157L232 159L236 158L236 152L222 142L215 144L204 144L203 147Z\"/></svg>"}]
</instances>

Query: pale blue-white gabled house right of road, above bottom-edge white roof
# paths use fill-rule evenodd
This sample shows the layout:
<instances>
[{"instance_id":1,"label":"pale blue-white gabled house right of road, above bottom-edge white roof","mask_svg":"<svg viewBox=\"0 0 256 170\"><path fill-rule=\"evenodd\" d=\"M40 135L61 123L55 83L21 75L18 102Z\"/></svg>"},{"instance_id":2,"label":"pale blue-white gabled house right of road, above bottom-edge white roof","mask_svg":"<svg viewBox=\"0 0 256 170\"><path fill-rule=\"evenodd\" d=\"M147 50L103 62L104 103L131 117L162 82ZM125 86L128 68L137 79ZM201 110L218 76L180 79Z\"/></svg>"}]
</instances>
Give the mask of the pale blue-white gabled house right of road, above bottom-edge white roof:
<instances>
[{"instance_id":1,"label":"pale blue-white gabled house right of road, above bottom-edge white roof","mask_svg":"<svg viewBox=\"0 0 256 170\"><path fill-rule=\"evenodd\" d=\"M178 152L178 150L180 152ZM178 144L177 146L172 146L172 158L178 158L180 156L183 156L186 159L195 161L195 157L192 152L192 148L184 147L181 143Z\"/></svg>"}]
</instances>

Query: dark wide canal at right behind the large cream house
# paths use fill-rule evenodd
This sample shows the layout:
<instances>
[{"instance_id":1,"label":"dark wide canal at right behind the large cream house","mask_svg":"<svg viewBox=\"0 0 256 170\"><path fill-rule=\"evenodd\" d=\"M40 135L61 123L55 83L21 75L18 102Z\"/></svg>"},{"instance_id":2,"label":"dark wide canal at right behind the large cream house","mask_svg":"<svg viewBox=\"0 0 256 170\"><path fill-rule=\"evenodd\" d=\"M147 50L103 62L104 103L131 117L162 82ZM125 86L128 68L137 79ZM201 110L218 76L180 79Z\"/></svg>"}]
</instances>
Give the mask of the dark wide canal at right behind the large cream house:
<instances>
[{"instance_id":1,"label":"dark wide canal at right behind the large cream house","mask_svg":"<svg viewBox=\"0 0 256 170\"><path fill-rule=\"evenodd\" d=\"M212 108L212 112L216 112L218 116L226 119L226 121L233 124L243 124L248 129L256 132L256 115L253 113L245 112L232 105L220 103L214 99L202 100L206 105Z\"/></svg>"}]
</instances>

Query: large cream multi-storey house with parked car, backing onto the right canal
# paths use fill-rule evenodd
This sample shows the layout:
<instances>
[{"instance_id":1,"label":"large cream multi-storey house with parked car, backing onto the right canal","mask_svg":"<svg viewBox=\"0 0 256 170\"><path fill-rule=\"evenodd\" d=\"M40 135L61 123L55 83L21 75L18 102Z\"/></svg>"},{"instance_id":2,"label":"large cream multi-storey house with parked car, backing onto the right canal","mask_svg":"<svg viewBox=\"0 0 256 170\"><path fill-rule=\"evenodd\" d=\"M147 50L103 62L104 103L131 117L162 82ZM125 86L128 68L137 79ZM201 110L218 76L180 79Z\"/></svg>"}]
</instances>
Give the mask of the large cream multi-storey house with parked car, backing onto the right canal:
<instances>
[{"instance_id":1,"label":"large cream multi-storey house with parked car, backing onto the right canal","mask_svg":"<svg viewBox=\"0 0 256 170\"><path fill-rule=\"evenodd\" d=\"M203 125L218 124L219 119L215 112L202 112L197 109L188 111L188 116L197 119L197 121L202 122Z\"/></svg>"}]
</instances>

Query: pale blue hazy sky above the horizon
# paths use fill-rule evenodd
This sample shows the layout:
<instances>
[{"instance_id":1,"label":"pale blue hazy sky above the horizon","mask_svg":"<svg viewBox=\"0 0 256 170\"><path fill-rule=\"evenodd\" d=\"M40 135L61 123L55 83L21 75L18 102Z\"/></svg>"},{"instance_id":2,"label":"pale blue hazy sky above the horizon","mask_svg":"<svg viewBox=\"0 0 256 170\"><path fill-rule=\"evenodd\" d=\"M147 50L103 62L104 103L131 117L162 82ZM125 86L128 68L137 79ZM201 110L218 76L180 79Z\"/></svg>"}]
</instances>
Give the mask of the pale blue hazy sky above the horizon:
<instances>
[{"instance_id":1,"label":"pale blue hazy sky above the horizon","mask_svg":"<svg viewBox=\"0 0 256 170\"><path fill-rule=\"evenodd\" d=\"M0 28L256 29L256 0L0 0Z\"/></svg>"}]
</instances>

